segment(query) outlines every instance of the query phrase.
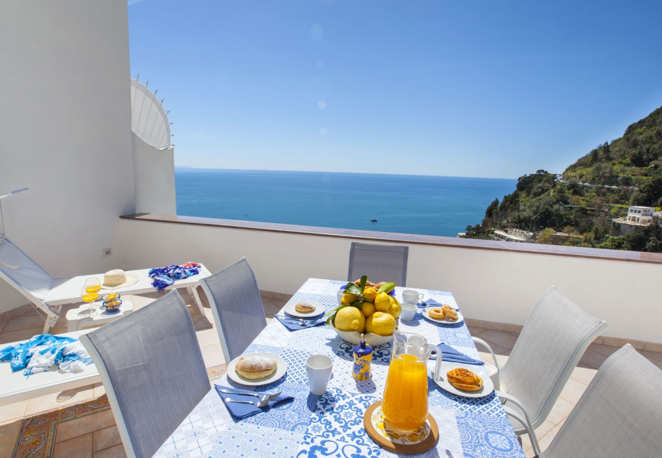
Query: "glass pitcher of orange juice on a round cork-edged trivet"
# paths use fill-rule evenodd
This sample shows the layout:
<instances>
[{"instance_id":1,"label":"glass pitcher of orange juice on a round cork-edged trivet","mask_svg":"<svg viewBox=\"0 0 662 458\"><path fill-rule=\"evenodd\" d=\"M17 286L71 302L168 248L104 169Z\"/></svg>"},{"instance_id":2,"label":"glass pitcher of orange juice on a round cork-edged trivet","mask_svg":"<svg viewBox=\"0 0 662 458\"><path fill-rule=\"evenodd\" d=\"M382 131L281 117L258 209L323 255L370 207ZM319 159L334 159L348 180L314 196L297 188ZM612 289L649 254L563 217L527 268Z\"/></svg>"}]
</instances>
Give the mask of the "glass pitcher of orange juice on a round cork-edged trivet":
<instances>
[{"instance_id":1,"label":"glass pitcher of orange juice on a round cork-edged trivet","mask_svg":"<svg viewBox=\"0 0 662 458\"><path fill-rule=\"evenodd\" d=\"M424 337L393 331L393 353L384 387L382 410L391 426L413 431L428 418L428 358L437 353L434 373L438 373L441 353Z\"/></svg>"}]
</instances>

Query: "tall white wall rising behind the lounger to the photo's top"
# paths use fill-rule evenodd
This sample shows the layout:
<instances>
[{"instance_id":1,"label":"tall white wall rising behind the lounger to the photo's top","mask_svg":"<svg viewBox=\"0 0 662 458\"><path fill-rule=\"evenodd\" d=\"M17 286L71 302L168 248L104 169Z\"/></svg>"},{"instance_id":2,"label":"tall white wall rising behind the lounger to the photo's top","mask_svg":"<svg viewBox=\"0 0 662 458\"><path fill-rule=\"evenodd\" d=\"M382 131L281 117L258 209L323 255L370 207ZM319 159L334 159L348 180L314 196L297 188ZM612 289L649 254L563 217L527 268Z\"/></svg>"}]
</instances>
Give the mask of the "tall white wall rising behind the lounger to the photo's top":
<instances>
[{"instance_id":1,"label":"tall white wall rising behind the lounger to the photo's top","mask_svg":"<svg viewBox=\"0 0 662 458\"><path fill-rule=\"evenodd\" d=\"M122 265L129 87L126 0L0 2L0 193L30 188L3 200L5 230L56 277ZM0 283L0 312L24 302Z\"/></svg>"}]
</instances>

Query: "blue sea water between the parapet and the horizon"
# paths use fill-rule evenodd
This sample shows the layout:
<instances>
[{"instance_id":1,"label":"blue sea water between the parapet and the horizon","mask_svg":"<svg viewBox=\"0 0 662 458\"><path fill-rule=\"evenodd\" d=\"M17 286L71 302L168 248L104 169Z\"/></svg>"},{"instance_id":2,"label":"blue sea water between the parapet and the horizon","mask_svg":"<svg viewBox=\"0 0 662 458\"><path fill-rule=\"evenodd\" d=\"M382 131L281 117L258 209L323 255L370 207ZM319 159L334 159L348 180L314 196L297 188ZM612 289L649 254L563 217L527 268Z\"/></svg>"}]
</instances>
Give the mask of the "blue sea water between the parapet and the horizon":
<instances>
[{"instance_id":1,"label":"blue sea water between the parapet and the horizon","mask_svg":"<svg viewBox=\"0 0 662 458\"><path fill-rule=\"evenodd\" d=\"M273 170L175 169L177 214L457 236L514 179ZM372 218L377 222L371 222Z\"/></svg>"}]
</instances>

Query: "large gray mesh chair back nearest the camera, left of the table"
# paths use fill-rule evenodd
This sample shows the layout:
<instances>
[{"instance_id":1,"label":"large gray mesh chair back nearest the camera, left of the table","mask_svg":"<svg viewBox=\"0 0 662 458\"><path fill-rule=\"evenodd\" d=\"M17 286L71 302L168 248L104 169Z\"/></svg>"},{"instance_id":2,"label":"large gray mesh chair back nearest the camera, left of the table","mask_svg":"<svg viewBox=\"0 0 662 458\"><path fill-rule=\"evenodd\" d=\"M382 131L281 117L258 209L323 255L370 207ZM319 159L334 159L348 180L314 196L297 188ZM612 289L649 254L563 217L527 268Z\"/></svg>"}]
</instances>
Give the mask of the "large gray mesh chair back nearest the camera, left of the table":
<instances>
[{"instance_id":1,"label":"large gray mesh chair back nearest the camera, left of the table","mask_svg":"<svg viewBox=\"0 0 662 458\"><path fill-rule=\"evenodd\" d=\"M99 369L129 458L154 455L209 392L193 321L177 291L80 340Z\"/></svg>"}]
</instances>

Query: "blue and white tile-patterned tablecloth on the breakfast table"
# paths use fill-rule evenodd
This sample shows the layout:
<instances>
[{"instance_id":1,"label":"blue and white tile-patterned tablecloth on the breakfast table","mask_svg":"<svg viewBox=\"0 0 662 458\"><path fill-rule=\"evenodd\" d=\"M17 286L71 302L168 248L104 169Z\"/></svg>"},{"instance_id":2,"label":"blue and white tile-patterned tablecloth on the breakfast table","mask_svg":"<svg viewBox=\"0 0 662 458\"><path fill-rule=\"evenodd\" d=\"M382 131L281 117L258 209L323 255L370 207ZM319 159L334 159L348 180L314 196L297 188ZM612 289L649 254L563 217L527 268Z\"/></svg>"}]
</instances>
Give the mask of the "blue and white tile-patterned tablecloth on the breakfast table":
<instances>
[{"instance_id":1,"label":"blue and white tile-patterned tablecloth on the breakfast table","mask_svg":"<svg viewBox=\"0 0 662 458\"><path fill-rule=\"evenodd\" d=\"M314 300L332 310L337 306L336 293L341 281L308 279L291 301ZM408 288L416 289L416 288ZM418 289L424 298L434 298L457 305L451 293ZM398 298L402 288L396 289ZM478 357L469 330L464 323L436 326L420 313L412 322L401 321L400 329L425 336L430 344L441 340L459 351ZM195 407L171 437L162 445L157 457L389 457L363 429L363 412L381 399L391 359L391 344L377 347L373 353L371 381L356 382L352 378L353 345L338 338L329 326L317 326L288 331L278 320L271 320L254 340L246 353L269 351L287 361L287 374L279 381L258 391L294 396L293 402L272 408L268 412L235 420L230 416L215 390ZM313 396L308 391L306 359L312 354L324 354L334 361L334 376L326 394ZM430 361L430 367L434 361ZM242 386L224 375L219 385ZM491 394L471 399L440 389L428 378L430 412L440 426L446 425L436 449L421 456L464 457L524 457L506 413L498 398ZM454 414L454 415L453 415ZM453 428L455 417L456 428Z\"/></svg>"}]
</instances>

